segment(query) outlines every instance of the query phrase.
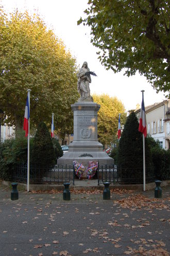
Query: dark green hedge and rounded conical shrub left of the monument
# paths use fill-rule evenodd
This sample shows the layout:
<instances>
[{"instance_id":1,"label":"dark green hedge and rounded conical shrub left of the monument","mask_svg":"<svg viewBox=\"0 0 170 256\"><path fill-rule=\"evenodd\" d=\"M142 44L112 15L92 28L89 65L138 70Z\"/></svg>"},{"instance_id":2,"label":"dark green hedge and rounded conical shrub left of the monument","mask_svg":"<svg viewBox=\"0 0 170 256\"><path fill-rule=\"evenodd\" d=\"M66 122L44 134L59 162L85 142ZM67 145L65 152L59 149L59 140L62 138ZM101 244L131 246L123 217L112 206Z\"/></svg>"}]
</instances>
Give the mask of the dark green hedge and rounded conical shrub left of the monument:
<instances>
[{"instance_id":1,"label":"dark green hedge and rounded conical shrub left of the monument","mask_svg":"<svg viewBox=\"0 0 170 256\"><path fill-rule=\"evenodd\" d=\"M11 181L17 165L27 163L27 138L21 133L17 138L0 143L0 179ZM35 137L30 138L30 165L47 167L57 163L63 151L57 139L52 139L45 123L40 123Z\"/></svg>"}]
</instances>

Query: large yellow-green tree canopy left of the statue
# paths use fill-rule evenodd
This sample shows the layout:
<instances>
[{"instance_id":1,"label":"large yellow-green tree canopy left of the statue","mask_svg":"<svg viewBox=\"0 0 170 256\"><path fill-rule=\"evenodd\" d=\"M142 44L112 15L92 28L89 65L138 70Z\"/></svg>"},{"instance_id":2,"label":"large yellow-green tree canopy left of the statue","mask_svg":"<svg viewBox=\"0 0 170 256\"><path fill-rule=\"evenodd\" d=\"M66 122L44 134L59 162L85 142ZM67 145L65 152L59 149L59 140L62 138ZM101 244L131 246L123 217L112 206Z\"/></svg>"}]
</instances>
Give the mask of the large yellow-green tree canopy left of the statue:
<instances>
[{"instance_id":1,"label":"large yellow-green tree canopy left of the statue","mask_svg":"<svg viewBox=\"0 0 170 256\"><path fill-rule=\"evenodd\" d=\"M4 120L22 129L27 89L31 125L50 123L61 134L73 127L71 104L78 99L76 60L37 15L0 7L0 107Z\"/></svg>"}]
</instances>

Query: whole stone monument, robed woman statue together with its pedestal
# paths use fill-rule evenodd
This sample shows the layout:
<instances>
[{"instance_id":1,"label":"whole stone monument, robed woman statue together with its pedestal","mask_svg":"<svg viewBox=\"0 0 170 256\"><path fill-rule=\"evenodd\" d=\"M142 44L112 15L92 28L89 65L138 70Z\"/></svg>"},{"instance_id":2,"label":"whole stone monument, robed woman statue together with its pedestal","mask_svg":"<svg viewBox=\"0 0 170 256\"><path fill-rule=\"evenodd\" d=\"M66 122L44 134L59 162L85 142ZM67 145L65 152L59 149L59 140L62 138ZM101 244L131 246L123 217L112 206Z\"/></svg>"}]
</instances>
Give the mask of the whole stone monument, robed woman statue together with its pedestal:
<instances>
[{"instance_id":1,"label":"whole stone monument, robed woman statue together with its pedestal","mask_svg":"<svg viewBox=\"0 0 170 256\"><path fill-rule=\"evenodd\" d=\"M93 102L90 95L91 75L96 76L84 61L77 74L77 90L80 99L72 104L74 112L74 140L66 152L57 161L59 166L73 165L73 161L88 166L89 161L97 161L99 165L112 165L113 159L103 152L103 145L97 139L97 112L100 105Z\"/></svg>"}]
</instances>

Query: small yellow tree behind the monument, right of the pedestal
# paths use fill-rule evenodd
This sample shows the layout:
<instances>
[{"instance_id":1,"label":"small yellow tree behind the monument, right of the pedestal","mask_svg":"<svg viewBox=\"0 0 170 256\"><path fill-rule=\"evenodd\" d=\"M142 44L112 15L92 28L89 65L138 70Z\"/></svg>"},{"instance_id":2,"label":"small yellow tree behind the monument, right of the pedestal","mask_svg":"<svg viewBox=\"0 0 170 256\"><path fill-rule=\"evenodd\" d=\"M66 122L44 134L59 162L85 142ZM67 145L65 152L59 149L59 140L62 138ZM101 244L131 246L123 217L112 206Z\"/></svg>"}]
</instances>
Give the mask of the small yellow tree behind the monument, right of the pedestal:
<instances>
[{"instance_id":1,"label":"small yellow tree behind the monument, right of the pedestal","mask_svg":"<svg viewBox=\"0 0 170 256\"><path fill-rule=\"evenodd\" d=\"M100 104L97 125L98 139L104 146L110 145L117 134L118 114L122 114L121 125L125 123L125 107L116 97L109 97L107 94L93 94L93 100Z\"/></svg>"}]
</instances>

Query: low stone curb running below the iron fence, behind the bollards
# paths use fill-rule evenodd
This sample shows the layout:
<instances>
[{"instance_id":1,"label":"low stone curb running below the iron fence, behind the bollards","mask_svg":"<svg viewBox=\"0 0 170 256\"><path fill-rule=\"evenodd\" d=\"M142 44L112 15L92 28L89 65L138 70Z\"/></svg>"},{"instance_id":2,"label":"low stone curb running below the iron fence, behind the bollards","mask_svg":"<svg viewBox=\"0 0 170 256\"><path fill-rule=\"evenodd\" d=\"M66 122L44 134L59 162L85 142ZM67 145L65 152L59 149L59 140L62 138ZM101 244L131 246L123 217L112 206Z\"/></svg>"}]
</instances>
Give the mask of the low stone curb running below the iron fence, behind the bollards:
<instances>
[{"instance_id":1,"label":"low stone curb running below the iron fence, behind the bollards","mask_svg":"<svg viewBox=\"0 0 170 256\"><path fill-rule=\"evenodd\" d=\"M11 186L11 182L8 181L2 181L1 182L3 185L10 187ZM168 185L168 181L162 181L161 183L161 187L163 186L167 186ZM148 183L146 184L146 190L152 190L156 187L155 182L152 183ZM27 190L27 184L24 183L18 183L18 187L19 190ZM41 191L45 191L45 190L58 190L58 191L62 191L64 188L63 185L48 185L48 184L30 184L29 185L29 190L41 190ZM110 189L114 189L114 188L120 188L120 189L127 189L127 190L137 190L137 191L143 191L143 184L134 184L134 185L110 185L109 186ZM100 184L100 185L70 185L70 189L74 189L74 190L104 190L104 185Z\"/></svg>"}]
</instances>

